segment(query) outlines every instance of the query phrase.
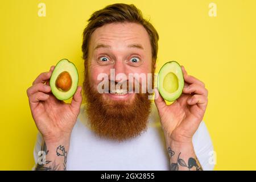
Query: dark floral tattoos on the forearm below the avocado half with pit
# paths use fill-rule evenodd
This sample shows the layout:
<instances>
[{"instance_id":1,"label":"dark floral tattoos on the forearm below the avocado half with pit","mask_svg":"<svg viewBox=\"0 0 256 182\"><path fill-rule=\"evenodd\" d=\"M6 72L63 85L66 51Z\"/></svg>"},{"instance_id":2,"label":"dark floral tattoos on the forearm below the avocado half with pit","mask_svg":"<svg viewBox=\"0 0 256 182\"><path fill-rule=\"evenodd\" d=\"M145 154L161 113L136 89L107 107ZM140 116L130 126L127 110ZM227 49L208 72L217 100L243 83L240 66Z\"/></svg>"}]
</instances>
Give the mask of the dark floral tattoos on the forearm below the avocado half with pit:
<instances>
[{"instance_id":1,"label":"dark floral tattoos on the forearm below the avocado half with pit","mask_svg":"<svg viewBox=\"0 0 256 182\"><path fill-rule=\"evenodd\" d=\"M46 142L44 142L44 144L42 146L42 151L45 152L44 153L45 155L47 155L49 152L49 150L47 150ZM66 167L67 152L65 151L64 146L60 145L59 147L57 147L56 155L64 156L63 167L64 167L64 170L66 170L67 169L67 167ZM43 156L43 153L39 157L42 158L42 156ZM49 166L46 167L45 166L46 164L49 164ZM51 160L46 160L46 162L44 164L37 164L35 170L36 171L57 171L57 170L60 170L60 166L59 166L59 164L56 164L55 160L53 162Z\"/></svg>"}]
</instances>

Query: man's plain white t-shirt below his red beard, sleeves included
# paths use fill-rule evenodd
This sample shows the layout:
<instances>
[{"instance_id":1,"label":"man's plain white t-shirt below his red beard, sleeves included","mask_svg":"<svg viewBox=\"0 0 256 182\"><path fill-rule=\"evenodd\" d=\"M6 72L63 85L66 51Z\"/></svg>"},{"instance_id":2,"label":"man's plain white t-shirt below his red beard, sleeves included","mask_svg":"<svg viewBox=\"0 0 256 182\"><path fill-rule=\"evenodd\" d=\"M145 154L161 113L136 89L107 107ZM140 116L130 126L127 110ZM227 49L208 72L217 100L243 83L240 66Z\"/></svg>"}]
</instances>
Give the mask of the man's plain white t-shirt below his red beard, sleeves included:
<instances>
[{"instance_id":1,"label":"man's plain white t-shirt below his red beard, sleeves included","mask_svg":"<svg viewBox=\"0 0 256 182\"><path fill-rule=\"evenodd\" d=\"M139 137L115 142L99 138L88 126L84 105L73 127L67 156L67 170L170 170L170 159L160 126L158 110L152 102L148 129ZM193 147L204 170L212 170L212 141L202 121L192 138ZM34 149L35 163L41 150L42 136Z\"/></svg>"}]
</instances>

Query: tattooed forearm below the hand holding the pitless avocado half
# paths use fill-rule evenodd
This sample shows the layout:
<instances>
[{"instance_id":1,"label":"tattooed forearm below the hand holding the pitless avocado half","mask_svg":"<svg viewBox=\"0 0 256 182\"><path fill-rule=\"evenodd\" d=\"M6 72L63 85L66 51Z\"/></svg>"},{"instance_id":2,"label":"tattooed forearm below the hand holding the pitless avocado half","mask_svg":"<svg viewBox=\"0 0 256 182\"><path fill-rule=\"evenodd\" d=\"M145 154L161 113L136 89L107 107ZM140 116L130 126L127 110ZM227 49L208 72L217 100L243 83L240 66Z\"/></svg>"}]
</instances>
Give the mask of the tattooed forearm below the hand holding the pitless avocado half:
<instances>
[{"instance_id":1,"label":"tattooed forearm below the hand holding the pitless avocado half","mask_svg":"<svg viewBox=\"0 0 256 182\"><path fill-rule=\"evenodd\" d=\"M171 140L167 145L171 171L202 171L192 142L179 143Z\"/></svg>"}]
</instances>

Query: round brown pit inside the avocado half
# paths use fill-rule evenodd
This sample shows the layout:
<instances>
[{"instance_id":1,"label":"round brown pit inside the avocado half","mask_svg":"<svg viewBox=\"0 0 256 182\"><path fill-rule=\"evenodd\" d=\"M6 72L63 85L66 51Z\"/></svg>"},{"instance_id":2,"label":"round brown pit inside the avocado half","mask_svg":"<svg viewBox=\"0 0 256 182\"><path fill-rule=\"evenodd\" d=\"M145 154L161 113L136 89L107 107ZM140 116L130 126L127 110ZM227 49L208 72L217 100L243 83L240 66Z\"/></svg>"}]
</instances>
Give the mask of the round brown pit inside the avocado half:
<instances>
[{"instance_id":1,"label":"round brown pit inside the avocado half","mask_svg":"<svg viewBox=\"0 0 256 182\"><path fill-rule=\"evenodd\" d=\"M68 92L72 86L72 78L67 71L60 73L55 81L55 86L62 92Z\"/></svg>"}]
</instances>

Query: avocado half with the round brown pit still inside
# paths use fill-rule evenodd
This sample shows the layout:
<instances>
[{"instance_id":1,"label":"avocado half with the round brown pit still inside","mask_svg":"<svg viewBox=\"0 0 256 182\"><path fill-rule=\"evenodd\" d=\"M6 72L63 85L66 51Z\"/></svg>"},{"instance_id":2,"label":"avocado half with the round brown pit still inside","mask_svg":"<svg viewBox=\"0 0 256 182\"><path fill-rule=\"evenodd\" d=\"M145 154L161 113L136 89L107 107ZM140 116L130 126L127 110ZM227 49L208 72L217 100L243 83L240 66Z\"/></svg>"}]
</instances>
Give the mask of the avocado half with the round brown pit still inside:
<instances>
[{"instance_id":1,"label":"avocado half with the round brown pit still inside","mask_svg":"<svg viewBox=\"0 0 256 182\"><path fill-rule=\"evenodd\" d=\"M76 93L78 81L79 75L75 64L67 59L62 59L56 64L49 85L52 94L58 100L68 100Z\"/></svg>"}]
</instances>

